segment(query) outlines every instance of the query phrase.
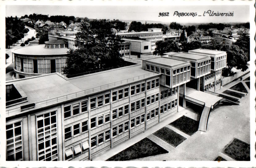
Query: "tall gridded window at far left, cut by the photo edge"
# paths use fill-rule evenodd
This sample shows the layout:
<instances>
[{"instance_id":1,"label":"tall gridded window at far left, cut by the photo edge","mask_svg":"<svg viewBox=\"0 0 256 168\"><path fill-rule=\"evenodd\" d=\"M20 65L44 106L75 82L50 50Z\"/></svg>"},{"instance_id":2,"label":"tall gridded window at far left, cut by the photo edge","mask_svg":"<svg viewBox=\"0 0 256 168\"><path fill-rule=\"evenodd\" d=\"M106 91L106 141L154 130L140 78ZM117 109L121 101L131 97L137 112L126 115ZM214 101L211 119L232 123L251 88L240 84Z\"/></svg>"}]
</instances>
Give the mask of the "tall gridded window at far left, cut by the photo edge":
<instances>
[{"instance_id":1,"label":"tall gridded window at far left, cut by the photo edge","mask_svg":"<svg viewBox=\"0 0 256 168\"><path fill-rule=\"evenodd\" d=\"M22 122L6 125L6 151L7 161L22 161Z\"/></svg>"}]
</instances>

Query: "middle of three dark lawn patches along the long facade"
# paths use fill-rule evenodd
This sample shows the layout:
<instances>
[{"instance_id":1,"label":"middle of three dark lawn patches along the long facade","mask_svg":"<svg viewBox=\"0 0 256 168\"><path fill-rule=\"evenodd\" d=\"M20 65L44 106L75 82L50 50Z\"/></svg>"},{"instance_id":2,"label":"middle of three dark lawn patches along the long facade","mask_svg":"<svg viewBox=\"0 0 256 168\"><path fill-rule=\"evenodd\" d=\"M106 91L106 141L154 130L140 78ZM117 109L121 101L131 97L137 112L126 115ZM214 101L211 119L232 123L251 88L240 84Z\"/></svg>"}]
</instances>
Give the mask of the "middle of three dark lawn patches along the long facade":
<instances>
[{"instance_id":1,"label":"middle of three dark lawn patches along the long facade","mask_svg":"<svg viewBox=\"0 0 256 168\"><path fill-rule=\"evenodd\" d=\"M167 127L163 127L153 134L166 141L170 145L173 145L175 148L187 139Z\"/></svg>"}]
</instances>

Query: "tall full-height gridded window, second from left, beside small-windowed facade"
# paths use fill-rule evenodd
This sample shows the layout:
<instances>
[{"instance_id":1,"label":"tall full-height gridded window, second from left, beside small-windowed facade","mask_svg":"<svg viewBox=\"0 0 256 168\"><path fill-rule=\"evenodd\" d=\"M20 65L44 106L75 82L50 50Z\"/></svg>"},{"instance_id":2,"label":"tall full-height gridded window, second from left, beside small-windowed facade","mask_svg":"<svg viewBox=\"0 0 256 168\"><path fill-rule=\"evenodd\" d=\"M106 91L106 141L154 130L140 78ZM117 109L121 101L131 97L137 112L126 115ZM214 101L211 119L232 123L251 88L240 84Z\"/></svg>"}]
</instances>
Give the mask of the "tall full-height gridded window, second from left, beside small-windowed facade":
<instances>
[{"instance_id":1,"label":"tall full-height gridded window, second from left, beside small-windowed facade","mask_svg":"<svg viewBox=\"0 0 256 168\"><path fill-rule=\"evenodd\" d=\"M38 160L57 161L57 116L56 111L36 117Z\"/></svg>"}]
</instances>

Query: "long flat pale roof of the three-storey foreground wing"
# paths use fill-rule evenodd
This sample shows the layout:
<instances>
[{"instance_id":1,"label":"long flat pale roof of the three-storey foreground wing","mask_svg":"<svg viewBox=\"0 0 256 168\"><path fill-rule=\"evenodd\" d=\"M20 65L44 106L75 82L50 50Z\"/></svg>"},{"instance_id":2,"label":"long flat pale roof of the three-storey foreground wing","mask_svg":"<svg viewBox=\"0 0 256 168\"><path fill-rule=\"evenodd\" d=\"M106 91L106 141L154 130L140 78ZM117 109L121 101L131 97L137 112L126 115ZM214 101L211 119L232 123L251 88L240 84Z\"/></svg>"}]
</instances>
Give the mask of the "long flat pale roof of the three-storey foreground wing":
<instances>
[{"instance_id":1,"label":"long flat pale roof of the three-storey foreground wing","mask_svg":"<svg viewBox=\"0 0 256 168\"><path fill-rule=\"evenodd\" d=\"M148 75L149 74L149 75ZM145 75L145 76L144 76ZM23 93L22 96L27 96L28 102L17 104L6 108L7 110L19 108L22 105L38 103L49 99L54 99L60 96L66 96L75 92L81 92L87 89L92 91L92 88L98 87L94 92L86 92L86 94L102 92L112 88L117 88L124 84L143 80L148 77L159 76L158 73L146 71L141 68L141 65L133 65L128 67L122 67L112 69L108 71L98 72L95 74L77 76L70 79L64 79L57 73L40 75L34 77L27 77L18 80L6 81L6 85L13 84L18 92ZM138 78L140 76L140 78ZM134 79L133 79L134 78ZM128 80L127 80L128 79ZM126 82L127 80L127 82ZM122 83L120 82L122 81ZM116 83L115 83L116 82ZM114 84L115 83L115 84ZM108 86L109 84L109 86ZM100 86L103 86L99 89ZM85 96L85 95L81 95ZM58 102L65 101L61 99ZM49 101L50 102L50 101ZM46 104L45 104L46 105ZM36 106L37 107L37 106ZM40 107L40 105L39 105ZM20 110L17 112L8 114L8 116L14 116L23 113Z\"/></svg>"}]
</instances>

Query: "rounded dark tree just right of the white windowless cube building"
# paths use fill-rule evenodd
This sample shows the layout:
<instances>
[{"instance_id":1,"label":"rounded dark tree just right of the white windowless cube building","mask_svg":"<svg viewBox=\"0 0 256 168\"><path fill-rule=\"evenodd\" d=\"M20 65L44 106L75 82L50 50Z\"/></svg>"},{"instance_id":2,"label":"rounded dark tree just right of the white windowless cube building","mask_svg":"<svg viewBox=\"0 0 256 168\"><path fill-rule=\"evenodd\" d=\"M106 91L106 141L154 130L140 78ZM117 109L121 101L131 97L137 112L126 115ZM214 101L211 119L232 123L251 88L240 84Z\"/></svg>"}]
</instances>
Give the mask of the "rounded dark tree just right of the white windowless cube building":
<instances>
[{"instance_id":1,"label":"rounded dark tree just right of the white windowless cube building","mask_svg":"<svg viewBox=\"0 0 256 168\"><path fill-rule=\"evenodd\" d=\"M179 52L180 47L178 46L178 43L173 40L166 40L166 41L158 41L156 42L156 48L153 52L153 55L164 55L166 52Z\"/></svg>"}]
</instances>

